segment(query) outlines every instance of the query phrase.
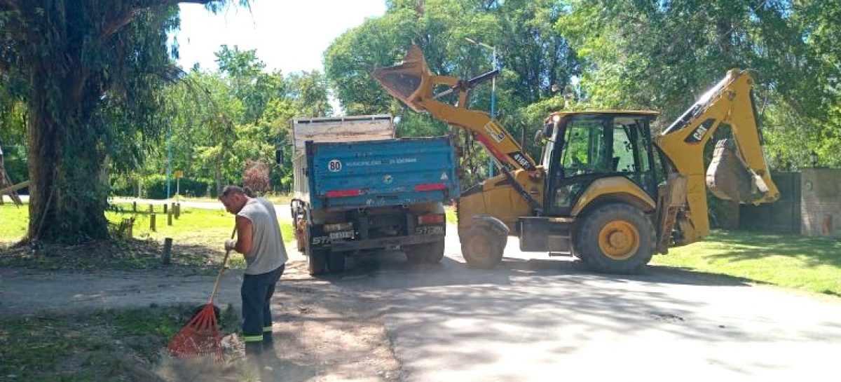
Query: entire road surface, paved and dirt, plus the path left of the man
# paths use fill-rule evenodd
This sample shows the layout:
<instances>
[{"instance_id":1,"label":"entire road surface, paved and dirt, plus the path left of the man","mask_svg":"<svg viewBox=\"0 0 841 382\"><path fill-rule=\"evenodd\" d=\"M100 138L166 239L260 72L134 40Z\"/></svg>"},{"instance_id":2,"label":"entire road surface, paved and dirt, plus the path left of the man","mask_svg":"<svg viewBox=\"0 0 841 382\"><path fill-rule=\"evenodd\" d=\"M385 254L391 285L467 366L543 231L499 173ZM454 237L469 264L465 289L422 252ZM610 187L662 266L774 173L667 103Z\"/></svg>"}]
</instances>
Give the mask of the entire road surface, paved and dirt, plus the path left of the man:
<instances>
[{"instance_id":1,"label":"entire road surface, paved and dirt, plus the path left of the man","mask_svg":"<svg viewBox=\"0 0 841 382\"><path fill-rule=\"evenodd\" d=\"M325 279L310 279L294 254L275 296L276 330L303 350L286 353L278 373L406 382L837 375L838 299L666 268L599 275L516 247L511 240L502 267L473 270L452 235L441 264L383 253ZM212 277L33 272L0 270L0 314L51 309L50 299L69 309L203 301L212 284ZM229 273L222 302L238 303L239 277ZM26 299L32 290L37 298Z\"/></svg>"}]
</instances>

